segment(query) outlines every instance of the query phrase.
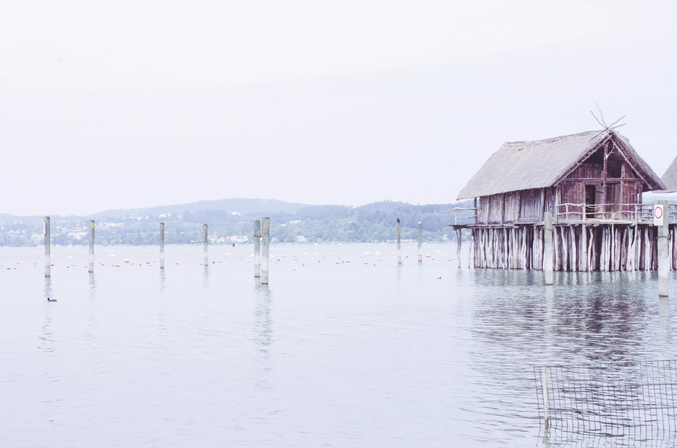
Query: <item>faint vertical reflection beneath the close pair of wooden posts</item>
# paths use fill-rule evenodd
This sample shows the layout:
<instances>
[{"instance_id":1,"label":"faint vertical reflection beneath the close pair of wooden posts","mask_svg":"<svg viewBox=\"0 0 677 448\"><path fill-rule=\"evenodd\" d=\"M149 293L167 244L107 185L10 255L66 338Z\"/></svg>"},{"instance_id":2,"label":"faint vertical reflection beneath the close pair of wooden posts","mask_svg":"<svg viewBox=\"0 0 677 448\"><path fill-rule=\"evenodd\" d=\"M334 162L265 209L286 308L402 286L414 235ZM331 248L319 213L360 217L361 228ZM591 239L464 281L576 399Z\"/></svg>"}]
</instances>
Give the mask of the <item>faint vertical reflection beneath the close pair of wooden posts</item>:
<instances>
[{"instance_id":1,"label":"faint vertical reflection beneath the close pair of wooden posts","mask_svg":"<svg viewBox=\"0 0 677 448\"><path fill-rule=\"evenodd\" d=\"M254 341L257 345L257 355L261 368L256 385L262 389L271 388L269 372L273 369L270 357L270 346L273 343L273 319L270 311L270 290L268 285L261 285L259 281L257 302L254 309Z\"/></svg>"}]
</instances>

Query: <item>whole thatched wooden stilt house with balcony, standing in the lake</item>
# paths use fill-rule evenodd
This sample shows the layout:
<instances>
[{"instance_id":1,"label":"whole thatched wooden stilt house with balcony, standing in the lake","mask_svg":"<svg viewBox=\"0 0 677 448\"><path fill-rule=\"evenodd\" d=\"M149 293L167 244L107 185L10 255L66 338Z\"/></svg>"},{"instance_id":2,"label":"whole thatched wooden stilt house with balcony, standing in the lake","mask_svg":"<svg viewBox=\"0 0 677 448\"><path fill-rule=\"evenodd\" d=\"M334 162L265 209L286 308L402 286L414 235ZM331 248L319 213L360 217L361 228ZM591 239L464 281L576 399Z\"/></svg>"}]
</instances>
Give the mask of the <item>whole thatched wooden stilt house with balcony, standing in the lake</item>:
<instances>
[{"instance_id":1,"label":"whole thatched wooden stilt house with balcony, standing in the lake","mask_svg":"<svg viewBox=\"0 0 677 448\"><path fill-rule=\"evenodd\" d=\"M556 271L657 269L653 204L665 190L630 141L613 129L506 142L461 190L452 226L466 231L468 263L543 269L544 214L552 214ZM677 206L668 206L670 269L677 266ZM459 238L460 240L460 238Z\"/></svg>"}]
</instances>

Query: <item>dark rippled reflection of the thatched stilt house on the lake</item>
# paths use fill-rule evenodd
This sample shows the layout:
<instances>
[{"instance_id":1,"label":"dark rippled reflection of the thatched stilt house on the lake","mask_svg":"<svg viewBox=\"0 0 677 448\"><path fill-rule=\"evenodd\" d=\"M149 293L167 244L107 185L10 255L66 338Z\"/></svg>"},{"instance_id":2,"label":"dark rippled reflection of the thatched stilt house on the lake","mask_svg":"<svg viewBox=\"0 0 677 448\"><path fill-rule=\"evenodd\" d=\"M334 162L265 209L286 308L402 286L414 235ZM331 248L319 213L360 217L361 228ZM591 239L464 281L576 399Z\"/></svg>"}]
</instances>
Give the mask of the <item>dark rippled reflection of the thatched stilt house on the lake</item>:
<instances>
[{"instance_id":1,"label":"dark rippled reflection of the thatched stilt house on the lake","mask_svg":"<svg viewBox=\"0 0 677 448\"><path fill-rule=\"evenodd\" d=\"M519 416L526 417L531 423L525 424L532 428L542 424L536 393L527 392L535 386L535 365L665 359L676 354L670 347L668 300L657 303L655 292L648 294L649 279L642 276L555 273L554 286L546 287L541 273L477 269L475 274L479 288L472 332L477 346L471 352L471 368L481 386L477 390L486 390L476 400L485 415L511 403L512 410L503 416L506 426ZM482 426L481 421L476 423ZM492 425L487 422L483 428L485 441L491 438ZM544 436L543 428L540 435ZM570 436L554 436L552 430L549 439L539 441L540 446L572 443ZM582 442L574 437L573 443L610 442L588 437L579 445Z\"/></svg>"}]
</instances>

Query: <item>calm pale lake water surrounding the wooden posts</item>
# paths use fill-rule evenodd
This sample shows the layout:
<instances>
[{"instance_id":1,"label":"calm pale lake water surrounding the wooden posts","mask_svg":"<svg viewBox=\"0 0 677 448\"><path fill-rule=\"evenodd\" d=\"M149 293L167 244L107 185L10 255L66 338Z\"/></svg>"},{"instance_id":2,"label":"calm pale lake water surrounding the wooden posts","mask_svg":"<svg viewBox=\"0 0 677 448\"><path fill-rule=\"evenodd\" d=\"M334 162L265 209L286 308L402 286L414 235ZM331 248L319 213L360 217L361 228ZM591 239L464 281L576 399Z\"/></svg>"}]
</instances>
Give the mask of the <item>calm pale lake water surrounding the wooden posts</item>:
<instances>
[{"instance_id":1,"label":"calm pale lake water surrounding the wooden posts","mask_svg":"<svg viewBox=\"0 0 677 448\"><path fill-rule=\"evenodd\" d=\"M392 244L0 248L3 447L541 447L533 365L668 359L657 274ZM379 254L378 252L383 252ZM123 263L125 257L130 264ZM9 268L9 269L8 269ZM441 277L441 278L439 278ZM46 297L58 302L47 303Z\"/></svg>"}]
</instances>

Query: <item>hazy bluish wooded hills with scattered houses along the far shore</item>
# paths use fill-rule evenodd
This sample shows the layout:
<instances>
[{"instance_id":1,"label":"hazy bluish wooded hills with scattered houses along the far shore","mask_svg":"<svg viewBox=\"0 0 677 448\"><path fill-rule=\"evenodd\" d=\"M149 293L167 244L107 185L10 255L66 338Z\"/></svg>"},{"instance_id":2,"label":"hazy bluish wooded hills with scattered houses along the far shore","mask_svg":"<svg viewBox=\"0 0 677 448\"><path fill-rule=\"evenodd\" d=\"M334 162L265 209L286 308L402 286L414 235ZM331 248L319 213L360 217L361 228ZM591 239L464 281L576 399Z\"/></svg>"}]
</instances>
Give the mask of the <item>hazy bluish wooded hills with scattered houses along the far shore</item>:
<instances>
[{"instance_id":1,"label":"hazy bluish wooded hills with scattered houses along the far shore","mask_svg":"<svg viewBox=\"0 0 677 448\"><path fill-rule=\"evenodd\" d=\"M424 241L451 241L450 224L455 204L412 205L380 201L363 206L307 205L278 200L224 199L192 204L105 210L88 217L51 216L51 242L59 246L84 246L88 242L87 220L97 221L95 244L158 244L159 223L165 223L166 244L201 244L202 224L209 225L212 244L250 243L253 219L270 217L273 242L387 242L395 239L395 223L401 221L403 240L416 238L422 224ZM171 213L171 216L169 214ZM471 210L458 212L458 222L468 222ZM0 246L35 246L43 238L43 217L0 215Z\"/></svg>"}]
</instances>

